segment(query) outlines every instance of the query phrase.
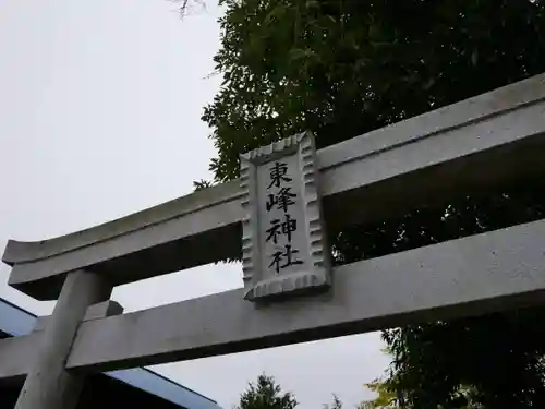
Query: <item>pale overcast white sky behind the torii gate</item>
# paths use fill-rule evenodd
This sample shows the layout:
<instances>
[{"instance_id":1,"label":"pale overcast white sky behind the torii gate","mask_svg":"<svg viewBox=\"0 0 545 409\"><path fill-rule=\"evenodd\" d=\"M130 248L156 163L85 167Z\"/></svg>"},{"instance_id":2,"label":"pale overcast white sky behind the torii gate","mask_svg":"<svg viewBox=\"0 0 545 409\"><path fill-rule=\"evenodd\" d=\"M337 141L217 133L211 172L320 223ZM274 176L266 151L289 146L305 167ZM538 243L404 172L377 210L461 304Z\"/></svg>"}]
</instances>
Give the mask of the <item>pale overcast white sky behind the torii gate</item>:
<instances>
[{"instance_id":1,"label":"pale overcast white sky behind the torii gate","mask_svg":"<svg viewBox=\"0 0 545 409\"><path fill-rule=\"evenodd\" d=\"M214 146L202 107L219 85L219 10L180 21L167 0L0 0L0 248L86 228L192 191ZM5 285L0 297L51 311ZM205 266L117 288L125 311L242 285L238 266ZM183 323L179 323L183 325ZM156 366L230 408L266 372L322 408L351 406L388 359L378 335Z\"/></svg>"}]
</instances>

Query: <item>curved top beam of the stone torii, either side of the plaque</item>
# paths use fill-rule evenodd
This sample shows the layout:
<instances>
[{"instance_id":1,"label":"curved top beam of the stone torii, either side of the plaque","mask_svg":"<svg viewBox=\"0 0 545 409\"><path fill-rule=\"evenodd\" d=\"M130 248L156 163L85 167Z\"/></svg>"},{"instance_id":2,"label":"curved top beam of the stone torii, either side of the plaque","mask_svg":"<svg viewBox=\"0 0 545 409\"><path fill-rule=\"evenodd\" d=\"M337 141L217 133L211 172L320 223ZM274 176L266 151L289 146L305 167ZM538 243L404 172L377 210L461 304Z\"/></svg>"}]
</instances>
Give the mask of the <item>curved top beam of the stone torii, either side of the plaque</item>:
<instances>
[{"instance_id":1,"label":"curved top beam of the stone torii, either side of the plaque","mask_svg":"<svg viewBox=\"0 0 545 409\"><path fill-rule=\"evenodd\" d=\"M543 173L545 74L386 127L317 153L328 226L389 217L522 175ZM417 183L414 181L417 180ZM69 272L122 285L241 253L238 181L90 229L11 240L9 284L56 299Z\"/></svg>"}]
</instances>

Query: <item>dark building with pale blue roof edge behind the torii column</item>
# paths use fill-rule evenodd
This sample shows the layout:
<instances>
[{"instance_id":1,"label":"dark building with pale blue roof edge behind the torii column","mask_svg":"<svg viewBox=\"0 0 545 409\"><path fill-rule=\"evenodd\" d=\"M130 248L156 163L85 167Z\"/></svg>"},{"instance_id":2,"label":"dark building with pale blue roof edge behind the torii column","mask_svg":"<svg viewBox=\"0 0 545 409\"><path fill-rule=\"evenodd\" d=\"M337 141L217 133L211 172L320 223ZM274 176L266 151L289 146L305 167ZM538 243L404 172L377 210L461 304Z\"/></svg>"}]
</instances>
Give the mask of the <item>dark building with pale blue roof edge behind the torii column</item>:
<instances>
[{"instance_id":1,"label":"dark building with pale blue roof edge behind the torii column","mask_svg":"<svg viewBox=\"0 0 545 409\"><path fill-rule=\"evenodd\" d=\"M0 299L0 338L32 333L36 315ZM0 408L15 405L21 384L0 385ZM89 375L77 409L87 408L221 409L214 400L148 369Z\"/></svg>"}]
</instances>

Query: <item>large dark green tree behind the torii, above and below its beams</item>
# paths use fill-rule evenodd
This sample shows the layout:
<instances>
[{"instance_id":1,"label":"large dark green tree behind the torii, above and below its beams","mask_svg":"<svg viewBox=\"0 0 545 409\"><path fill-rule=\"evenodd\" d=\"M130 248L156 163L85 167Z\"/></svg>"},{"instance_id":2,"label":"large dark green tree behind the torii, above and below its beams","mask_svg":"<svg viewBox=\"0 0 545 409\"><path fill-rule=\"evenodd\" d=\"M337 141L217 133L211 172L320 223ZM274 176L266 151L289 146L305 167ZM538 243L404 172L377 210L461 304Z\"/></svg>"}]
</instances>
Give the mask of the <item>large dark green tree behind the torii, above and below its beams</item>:
<instances>
[{"instance_id":1,"label":"large dark green tree behind the torii, above and below its beams","mask_svg":"<svg viewBox=\"0 0 545 409\"><path fill-rule=\"evenodd\" d=\"M304 130L318 147L545 71L545 5L534 0L221 0L223 76L203 119L217 182L239 154ZM472 193L340 231L338 263L545 216L541 181ZM425 284L422 284L425 286ZM384 332L389 384L408 408L545 407L543 309Z\"/></svg>"}]
</instances>

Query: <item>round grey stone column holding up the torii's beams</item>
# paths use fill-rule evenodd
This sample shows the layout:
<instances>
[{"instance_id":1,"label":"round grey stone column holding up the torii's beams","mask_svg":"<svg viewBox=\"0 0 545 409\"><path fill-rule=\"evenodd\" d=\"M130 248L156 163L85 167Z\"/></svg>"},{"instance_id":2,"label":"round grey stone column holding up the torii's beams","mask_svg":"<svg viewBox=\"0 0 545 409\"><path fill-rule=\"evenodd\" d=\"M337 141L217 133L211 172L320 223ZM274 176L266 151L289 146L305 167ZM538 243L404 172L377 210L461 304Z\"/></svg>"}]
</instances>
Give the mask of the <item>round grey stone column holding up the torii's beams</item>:
<instances>
[{"instance_id":1,"label":"round grey stone column holding up the torii's beams","mask_svg":"<svg viewBox=\"0 0 545 409\"><path fill-rule=\"evenodd\" d=\"M64 369L87 306L108 300L112 287L95 273L70 273L40 339L40 350L15 409L73 409L85 376Z\"/></svg>"}]
</instances>

